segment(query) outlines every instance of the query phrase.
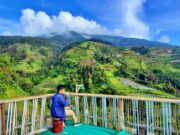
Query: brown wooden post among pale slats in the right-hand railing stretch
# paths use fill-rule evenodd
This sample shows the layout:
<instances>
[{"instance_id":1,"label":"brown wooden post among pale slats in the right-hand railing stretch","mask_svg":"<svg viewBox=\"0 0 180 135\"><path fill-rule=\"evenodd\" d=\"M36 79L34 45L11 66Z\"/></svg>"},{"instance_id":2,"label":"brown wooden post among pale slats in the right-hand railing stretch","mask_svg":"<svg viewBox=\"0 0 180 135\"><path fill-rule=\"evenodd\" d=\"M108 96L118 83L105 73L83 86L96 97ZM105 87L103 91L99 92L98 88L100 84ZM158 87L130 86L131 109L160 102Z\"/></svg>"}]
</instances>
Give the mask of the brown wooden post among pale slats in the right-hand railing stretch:
<instances>
[{"instance_id":1,"label":"brown wooden post among pale slats in the right-hand railing stretch","mask_svg":"<svg viewBox=\"0 0 180 135\"><path fill-rule=\"evenodd\" d=\"M118 103L118 130L121 130L121 119L122 119L122 111L123 111L123 99L119 99Z\"/></svg>"}]
</instances>

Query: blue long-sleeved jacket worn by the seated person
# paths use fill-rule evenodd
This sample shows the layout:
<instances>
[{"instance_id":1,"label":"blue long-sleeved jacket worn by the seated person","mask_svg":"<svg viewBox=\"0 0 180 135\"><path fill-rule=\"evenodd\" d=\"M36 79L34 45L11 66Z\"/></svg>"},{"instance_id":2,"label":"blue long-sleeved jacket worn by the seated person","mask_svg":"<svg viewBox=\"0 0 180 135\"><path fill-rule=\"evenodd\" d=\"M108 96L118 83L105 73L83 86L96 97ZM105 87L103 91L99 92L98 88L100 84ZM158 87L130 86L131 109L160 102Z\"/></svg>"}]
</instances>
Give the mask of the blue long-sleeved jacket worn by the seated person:
<instances>
[{"instance_id":1,"label":"blue long-sleeved jacket worn by the seated person","mask_svg":"<svg viewBox=\"0 0 180 135\"><path fill-rule=\"evenodd\" d=\"M69 96L65 96L64 98L62 94L56 93L51 100L51 117L65 120L66 112L64 107L69 105Z\"/></svg>"}]
</instances>

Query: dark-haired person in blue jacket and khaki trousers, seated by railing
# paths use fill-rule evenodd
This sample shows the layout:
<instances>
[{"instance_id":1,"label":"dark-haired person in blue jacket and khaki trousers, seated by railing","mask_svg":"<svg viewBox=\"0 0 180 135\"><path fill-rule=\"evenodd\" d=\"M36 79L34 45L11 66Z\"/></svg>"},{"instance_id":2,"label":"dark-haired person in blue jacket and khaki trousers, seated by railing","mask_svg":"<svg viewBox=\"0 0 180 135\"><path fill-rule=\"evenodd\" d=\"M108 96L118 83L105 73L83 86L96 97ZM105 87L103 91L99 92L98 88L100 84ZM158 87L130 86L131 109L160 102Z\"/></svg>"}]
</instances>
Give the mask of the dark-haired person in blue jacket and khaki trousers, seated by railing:
<instances>
[{"instance_id":1,"label":"dark-haired person in blue jacket and khaki trousers, seated by railing","mask_svg":"<svg viewBox=\"0 0 180 135\"><path fill-rule=\"evenodd\" d=\"M66 120L66 115L73 116L74 124L78 124L78 121L75 117L75 113L71 110L65 111L65 107L70 106L69 96L65 93L65 86L58 85L57 93L51 98L51 117L54 120L53 124L57 125L56 122L63 123ZM56 126L55 126L56 128Z\"/></svg>"}]
</instances>

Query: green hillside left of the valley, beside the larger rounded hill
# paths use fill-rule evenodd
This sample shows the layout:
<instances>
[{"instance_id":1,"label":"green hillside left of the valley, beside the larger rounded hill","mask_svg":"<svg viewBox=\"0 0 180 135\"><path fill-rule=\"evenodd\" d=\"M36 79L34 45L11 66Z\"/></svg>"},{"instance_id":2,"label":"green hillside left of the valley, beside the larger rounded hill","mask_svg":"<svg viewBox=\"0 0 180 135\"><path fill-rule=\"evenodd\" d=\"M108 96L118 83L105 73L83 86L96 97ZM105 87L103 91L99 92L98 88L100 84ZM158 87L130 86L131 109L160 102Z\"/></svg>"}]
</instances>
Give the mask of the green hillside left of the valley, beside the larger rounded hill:
<instances>
[{"instance_id":1,"label":"green hillside left of the valley, beside the larger rounded hill","mask_svg":"<svg viewBox=\"0 0 180 135\"><path fill-rule=\"evenodd\" d=\"M28 95L34 85L46 77L54 57L52 48L15 44L1 49L0 95L16 97Z\"/></svg>"}]
</instances>

